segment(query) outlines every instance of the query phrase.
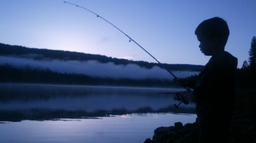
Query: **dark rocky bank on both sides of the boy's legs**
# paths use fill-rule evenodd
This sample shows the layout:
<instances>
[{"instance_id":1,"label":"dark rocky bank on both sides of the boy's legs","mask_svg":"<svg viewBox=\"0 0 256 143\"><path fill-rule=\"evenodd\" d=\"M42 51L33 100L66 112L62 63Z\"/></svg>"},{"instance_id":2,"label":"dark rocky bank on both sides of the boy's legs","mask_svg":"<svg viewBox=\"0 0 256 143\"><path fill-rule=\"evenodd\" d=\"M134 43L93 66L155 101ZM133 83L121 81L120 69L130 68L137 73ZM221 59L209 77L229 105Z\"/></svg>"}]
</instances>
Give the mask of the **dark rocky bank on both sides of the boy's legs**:
<instances>
[{"instance_id":1,"label":"dark rocky bank on both sides of the boy's legs","mask_svg":"<svg viewBox=\"0 0 256 143\"><path fill-rule=\"evenodd\" d=\"M237 102L230 127L230 143L256 142L256 89L237 91ZM144 143L196 143L199 141L199 126L194 123L161 126L155 129L152 139Z\"/></svg>"}]
</instances>

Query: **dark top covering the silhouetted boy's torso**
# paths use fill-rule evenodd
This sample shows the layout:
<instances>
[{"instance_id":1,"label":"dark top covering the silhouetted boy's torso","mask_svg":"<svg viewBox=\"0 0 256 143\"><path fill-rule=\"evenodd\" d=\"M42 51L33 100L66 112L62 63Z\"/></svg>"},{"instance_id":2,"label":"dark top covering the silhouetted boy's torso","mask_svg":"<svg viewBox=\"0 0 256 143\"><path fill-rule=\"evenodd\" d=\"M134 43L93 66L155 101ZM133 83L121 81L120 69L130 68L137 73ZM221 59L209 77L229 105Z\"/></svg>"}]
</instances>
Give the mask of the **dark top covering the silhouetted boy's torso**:
<instances>
[{"instance_id":1,"label":"dark top covering the silhouetted boy's torso","mask_svg":"<svg viewBox=\"0 0 256 143\"><path fill-rule=\"evenodd\" d=\"M207 107L213 104L235 102L235 73L237 58L228 52L214 54L199 74L193 94L197 104Z\"/></svg>"}]
</instances>

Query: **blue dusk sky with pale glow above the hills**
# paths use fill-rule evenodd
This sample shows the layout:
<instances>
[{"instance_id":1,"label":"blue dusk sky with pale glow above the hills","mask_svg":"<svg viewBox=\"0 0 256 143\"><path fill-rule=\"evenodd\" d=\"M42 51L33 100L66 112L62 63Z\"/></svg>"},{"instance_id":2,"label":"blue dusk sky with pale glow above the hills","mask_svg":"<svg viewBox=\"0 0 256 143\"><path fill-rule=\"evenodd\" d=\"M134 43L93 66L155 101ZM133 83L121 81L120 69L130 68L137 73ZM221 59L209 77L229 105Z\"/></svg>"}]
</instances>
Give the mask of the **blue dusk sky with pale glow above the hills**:
<instances>
[{"instance_id":1,"label":"blue dusk sky with pale glow above the hills","mask_svg":"<svg viewBox=\"0 0 256 143\"><path fill-rule=\"evenodd\" d=\"M255 0L67 0L97 13L161 63L205 65L194 30L212 17L230 28L226 51L248 61ZM0 0L0 43L156 61L95 14L60 0Z\"/></svg>"}]
</instances>

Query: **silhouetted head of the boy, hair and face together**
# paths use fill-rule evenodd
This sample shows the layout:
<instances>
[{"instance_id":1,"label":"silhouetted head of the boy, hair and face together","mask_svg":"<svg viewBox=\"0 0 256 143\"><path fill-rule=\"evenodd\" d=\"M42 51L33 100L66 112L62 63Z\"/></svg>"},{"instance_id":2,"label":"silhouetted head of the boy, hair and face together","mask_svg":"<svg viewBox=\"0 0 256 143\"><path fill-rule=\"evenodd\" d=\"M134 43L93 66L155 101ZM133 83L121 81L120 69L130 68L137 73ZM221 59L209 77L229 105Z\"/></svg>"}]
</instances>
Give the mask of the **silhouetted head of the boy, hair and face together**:
<instances>
[{"instance_id":1,"label":"silhouetted head of the boy, hair and face together","mask_svg":"<svg viewBox=\"0 0 256 143\"><path fill-rule=\"evenodd\" d=\"M224 50L229 36L228 24L219 17L206 19L198 25L195 34L200 41L201 51L212 56L214 52ZM204 50L205 47L208 49Z\"/></svg>"}]
</instances>

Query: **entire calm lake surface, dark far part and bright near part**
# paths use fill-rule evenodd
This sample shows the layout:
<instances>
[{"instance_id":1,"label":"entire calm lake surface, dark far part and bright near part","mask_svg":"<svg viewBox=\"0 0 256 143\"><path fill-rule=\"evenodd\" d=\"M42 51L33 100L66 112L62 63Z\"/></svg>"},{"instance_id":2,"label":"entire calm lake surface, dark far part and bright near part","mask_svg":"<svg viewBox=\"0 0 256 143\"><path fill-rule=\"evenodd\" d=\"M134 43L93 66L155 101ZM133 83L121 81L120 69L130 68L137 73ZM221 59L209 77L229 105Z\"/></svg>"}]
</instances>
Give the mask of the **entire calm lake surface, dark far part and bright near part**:
<instances>
[{"instance_id":1,"label":"entire calm lake surface, dark far part and bright near part","mask_svg":"<svg viewBox=\"0 0 256 143\"><path fill-rule=\"evenodd\" d=\"M159 126L194 122L181 89L0 84L0 142L144 142Z\"/></svg>"}]
</instances>

